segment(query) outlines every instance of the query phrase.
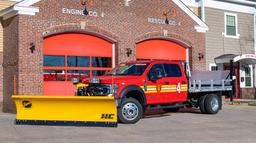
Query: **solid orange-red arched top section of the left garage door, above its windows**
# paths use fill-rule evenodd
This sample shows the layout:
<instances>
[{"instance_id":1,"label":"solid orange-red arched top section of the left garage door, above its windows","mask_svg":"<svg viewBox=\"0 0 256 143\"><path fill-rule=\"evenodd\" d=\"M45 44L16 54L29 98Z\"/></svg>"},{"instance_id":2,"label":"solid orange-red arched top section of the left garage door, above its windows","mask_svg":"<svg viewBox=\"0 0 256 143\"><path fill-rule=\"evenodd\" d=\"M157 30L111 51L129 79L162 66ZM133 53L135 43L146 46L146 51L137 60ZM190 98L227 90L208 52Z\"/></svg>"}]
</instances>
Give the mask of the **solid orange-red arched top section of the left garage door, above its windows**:
<instances>
[{"instance_id":1,"label":"solid orange-red arched top section of the left garage door, above its windows","mask_svg":"<svg viewBox=\"0 0 256 143\"><path fill-rule=\"evenodd\" d=\"M87 34L58 34L44 39L44 54L112 56L112 43Z\"/></svg>"}]
</instances>

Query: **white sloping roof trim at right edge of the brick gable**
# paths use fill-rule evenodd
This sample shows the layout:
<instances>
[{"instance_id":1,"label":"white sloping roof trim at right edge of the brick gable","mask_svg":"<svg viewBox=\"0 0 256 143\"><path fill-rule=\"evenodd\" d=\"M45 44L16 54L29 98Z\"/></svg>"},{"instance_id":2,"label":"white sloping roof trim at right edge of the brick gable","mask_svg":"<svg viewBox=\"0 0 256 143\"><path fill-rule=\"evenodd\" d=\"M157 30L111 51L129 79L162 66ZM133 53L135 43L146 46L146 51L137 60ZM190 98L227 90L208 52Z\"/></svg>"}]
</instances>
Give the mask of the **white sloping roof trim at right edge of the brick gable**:
<instances>
[{"instance_id":1,"label":"white sloping roof trim at right edge of the brick gable","mask_svg":"<svg viewBox=\"0 0 256 143\"><path fill-rule=\"evenodd\" d=\"M209 26L204 23L203 20L201 20L194 12L192 12L186 5L184 5L180 0L172 0L178 7L180 7L180 9L182 9L189 17L191 17L193 20L195 20L199 26L197 27L203 27L204 30L200 29L195 29L197 30L197 32L201 32L201 33L206 33L206 31L208 31Z\"/></svg>"}]
</instances>

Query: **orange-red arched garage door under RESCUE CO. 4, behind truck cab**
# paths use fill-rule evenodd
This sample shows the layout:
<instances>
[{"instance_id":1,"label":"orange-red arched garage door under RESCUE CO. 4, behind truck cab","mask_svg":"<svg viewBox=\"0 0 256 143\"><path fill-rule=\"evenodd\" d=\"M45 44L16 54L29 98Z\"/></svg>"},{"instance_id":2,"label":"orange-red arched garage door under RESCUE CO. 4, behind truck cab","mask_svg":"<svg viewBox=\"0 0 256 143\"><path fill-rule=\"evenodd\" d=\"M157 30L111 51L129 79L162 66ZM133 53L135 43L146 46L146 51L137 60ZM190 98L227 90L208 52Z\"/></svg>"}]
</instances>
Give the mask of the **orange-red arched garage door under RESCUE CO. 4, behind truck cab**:
<instances>
[{"instance_id":1,"label":"orange-red arched garage door under RESCUE CO. 4, behind truck cab","mask_svg":"<svg viewBox=\"0 0 256 143\"><path fill-rule=\"evenodd\" d=\"M186 48L162 39L152 39L137 43L138 60L186 61Z\"/></svg>"}]
</instances>

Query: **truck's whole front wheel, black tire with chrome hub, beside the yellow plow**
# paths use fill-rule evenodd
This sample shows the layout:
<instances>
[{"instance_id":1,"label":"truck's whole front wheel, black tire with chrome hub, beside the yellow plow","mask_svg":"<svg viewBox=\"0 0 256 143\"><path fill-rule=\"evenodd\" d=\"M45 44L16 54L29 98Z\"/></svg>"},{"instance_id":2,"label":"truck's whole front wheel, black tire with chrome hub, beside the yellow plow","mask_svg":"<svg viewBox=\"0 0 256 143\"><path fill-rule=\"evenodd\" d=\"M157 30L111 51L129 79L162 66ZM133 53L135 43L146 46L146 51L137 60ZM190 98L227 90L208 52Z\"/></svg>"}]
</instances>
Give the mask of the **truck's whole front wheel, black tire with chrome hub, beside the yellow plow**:
<instances>
[{"instance_id":1,"label":"truck's whole front wheel, black tire with chrome hub, beside the yellow plow","mask_svg":"<svg viewBox=\"0 0 256 143\"><path fill-rule=\"evenodd\" d=\"M124 99L118 110L118 119L124 124L137 123L143 112L140 102L134 98Z\"/></svg>"}]
</instances>

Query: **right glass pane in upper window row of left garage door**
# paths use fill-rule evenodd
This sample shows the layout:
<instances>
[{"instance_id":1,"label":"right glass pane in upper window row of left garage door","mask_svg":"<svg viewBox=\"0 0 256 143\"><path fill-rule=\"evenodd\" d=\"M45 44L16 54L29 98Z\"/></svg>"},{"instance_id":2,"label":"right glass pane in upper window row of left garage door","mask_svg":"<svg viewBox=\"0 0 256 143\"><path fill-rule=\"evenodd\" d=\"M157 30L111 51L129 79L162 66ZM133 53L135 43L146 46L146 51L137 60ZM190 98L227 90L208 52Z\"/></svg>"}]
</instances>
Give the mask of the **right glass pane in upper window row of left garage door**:
<instances>
[{"instance_id":1,"label":"right glass pane in upper window row of left garage door","mask_svg":"<svg viewBox=\"0 0 256 143\"><path fill-rule=\"evenodd\" d=\"M103 68L102 63L104 63L104 68L112 68L112 58L92 56L92 67L93 68Z\"/></svg>"}]
</instances>

